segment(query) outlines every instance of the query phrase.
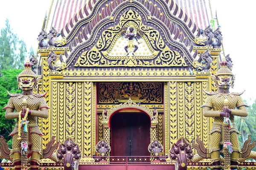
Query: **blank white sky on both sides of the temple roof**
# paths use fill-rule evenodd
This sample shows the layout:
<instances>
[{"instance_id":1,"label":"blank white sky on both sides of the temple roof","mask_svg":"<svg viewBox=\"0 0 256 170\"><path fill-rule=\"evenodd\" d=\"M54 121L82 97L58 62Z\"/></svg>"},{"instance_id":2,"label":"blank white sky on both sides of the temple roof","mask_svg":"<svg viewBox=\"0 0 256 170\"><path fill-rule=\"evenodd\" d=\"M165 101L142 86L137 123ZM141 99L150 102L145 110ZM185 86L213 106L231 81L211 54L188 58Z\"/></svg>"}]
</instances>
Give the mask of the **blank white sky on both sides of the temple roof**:
<instances>
[{"instance_id":1,"label":"blank white sky on both sides of the temple roof","mask_svg":"<svg viewBox=\"0 0 256 170\"><path fill-rule=\"evenodd\" d=\"M52 0L0 0L0 28L6 18L13 31L36 50L37 37L41 31L46 11ZM244 91L243 99L256 98L255 40L256 3L254 0L211 0L213 11L217 9L218 21L223 34L225 54L233 60L233 73L236 74L235 88L231 91ZM214 12L215 13L215 12ZM255 84L254 84L255 83Z\"/></svg>"}]
</instances>

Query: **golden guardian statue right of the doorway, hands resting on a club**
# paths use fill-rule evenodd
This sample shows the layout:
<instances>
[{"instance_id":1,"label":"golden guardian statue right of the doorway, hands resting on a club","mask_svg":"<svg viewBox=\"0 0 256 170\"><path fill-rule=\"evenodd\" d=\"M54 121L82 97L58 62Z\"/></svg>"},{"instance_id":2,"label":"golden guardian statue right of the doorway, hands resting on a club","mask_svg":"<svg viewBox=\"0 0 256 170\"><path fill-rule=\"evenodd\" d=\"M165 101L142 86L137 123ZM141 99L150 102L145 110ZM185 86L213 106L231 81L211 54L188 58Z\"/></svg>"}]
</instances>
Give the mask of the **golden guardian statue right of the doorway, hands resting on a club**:
<instances>
[{"instance_id":1,"label":"golden guardian statue right of the doorway, hands resting on a club","mask_svg":"<svg viewBox=\"0 0 256 170\"><path fill-rule=\"evenodd\" d=\"M224 154L224 169L236 170L241 150L237 136L240 133L236 129L234 116L247 116L247 105L244 104L240 96L242 93L230 93L229 88L233 88L235 77L227 68L228 63L225 59L220 64L221 68L213 76L215 84L218 86L218 92L206 92L209 96L202 106L203 115L214 119L210 131L209 148L213 169L221 170L220 152L222 152Z\"/></svg>"}]
</instances>

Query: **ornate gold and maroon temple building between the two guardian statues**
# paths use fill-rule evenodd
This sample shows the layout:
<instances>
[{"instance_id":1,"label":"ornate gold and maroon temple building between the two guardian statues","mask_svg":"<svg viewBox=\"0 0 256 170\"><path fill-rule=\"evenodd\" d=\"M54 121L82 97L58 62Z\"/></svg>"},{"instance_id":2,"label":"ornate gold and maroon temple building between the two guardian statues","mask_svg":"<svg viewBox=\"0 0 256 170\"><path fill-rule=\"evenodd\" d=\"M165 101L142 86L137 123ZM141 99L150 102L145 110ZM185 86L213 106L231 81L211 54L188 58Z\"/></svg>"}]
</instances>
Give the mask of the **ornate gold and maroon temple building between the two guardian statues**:
<instances>
[{"instance_id":1,"label":"ornate gold and maroon temple building between the two guardian statues","mask_svg":"<svg viewBox=\"0 0 256 170\"><path fill-rule=\"evenodd\" d=\"M52 0L30 63L48 91L42 148L55 137L63 160L40 168L218 170L195 144L211 148L202 106L233 66L211 19L208 0Z\"/></svg>"}]
</instances>

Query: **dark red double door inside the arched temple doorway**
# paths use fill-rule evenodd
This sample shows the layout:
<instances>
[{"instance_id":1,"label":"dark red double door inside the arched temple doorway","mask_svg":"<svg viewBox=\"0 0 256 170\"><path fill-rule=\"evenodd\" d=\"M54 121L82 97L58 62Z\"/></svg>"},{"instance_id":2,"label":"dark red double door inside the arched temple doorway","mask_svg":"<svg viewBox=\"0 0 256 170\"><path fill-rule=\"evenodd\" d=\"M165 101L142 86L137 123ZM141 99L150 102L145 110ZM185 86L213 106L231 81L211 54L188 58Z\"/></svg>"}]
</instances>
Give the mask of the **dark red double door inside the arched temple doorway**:
<instances>
[{"instance_id":1,"label":"dark red double door inside the arched temple doorway","mask_svg":"<svg viewBox=\"0 0 256 170\"><path fill-rule=\"evenodd\" d=\"M150 127L145 113L115 113L111 118L111 156L150 156Z\"/></svg>"}]
</instances>

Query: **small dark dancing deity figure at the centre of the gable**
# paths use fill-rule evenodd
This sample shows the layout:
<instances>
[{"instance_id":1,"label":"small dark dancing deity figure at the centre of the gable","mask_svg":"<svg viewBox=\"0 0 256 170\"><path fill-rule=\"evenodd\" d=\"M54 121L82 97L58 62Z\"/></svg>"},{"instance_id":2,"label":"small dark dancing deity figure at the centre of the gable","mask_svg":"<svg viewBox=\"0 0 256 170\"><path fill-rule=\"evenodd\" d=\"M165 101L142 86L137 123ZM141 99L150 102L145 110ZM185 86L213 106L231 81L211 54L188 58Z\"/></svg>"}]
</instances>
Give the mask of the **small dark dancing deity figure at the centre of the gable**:
<instances>
[{"instance_id":1,"label":"small dark dancing deity figure at the centre of the gable","mask_svg":"<svg viewBox=\"0 0 256 170\"><path fill-rule=\"evenodd\" d=\"M129 26L129 31L127 31L127 33L125 33L126 30L122 31L121 34L125 35L125 38L128 38L128 45L125 46L125 51L126 51L126 55L129 55L129 52L132 52L132 55L135 55L135 51L137 51L137 49L139 48L138 45L136 45L136 42L134 42L134 38L136 39L137 43L140 44L141 42L138 41L138 38L140 36L138 36L137 34L135 34L135 27L134 25L130 25ZM132 51L132 48L134 47L134 51ZM128 52L128 48L129 48L129 52Z\"/></svg>"}]
</instances>

